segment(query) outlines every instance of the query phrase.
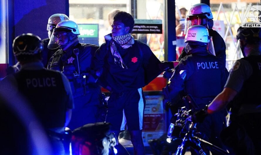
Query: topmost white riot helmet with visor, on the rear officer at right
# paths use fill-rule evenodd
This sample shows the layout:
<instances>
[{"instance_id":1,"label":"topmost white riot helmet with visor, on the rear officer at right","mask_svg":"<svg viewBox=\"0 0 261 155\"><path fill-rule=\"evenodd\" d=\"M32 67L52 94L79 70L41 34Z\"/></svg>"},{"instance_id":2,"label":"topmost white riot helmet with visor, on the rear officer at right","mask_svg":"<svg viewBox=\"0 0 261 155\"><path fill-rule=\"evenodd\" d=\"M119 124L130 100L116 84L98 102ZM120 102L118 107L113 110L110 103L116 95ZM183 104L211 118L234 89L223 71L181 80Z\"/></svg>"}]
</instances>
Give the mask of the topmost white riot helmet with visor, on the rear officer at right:
<instances>
[{"instance_id":1,"label":"topmost white riot helmet with visor, on the rear officer at right","mask_svg":"<svg viewBox=\"0 0 261 155\"><path fill-rule=\"evenodd\" d=\"M186 17L185 34L190 26L202 25L207 29L213 27L213 15L207 4L199 3L191 6L189 15Z\"/></svg>"}]
</instances>

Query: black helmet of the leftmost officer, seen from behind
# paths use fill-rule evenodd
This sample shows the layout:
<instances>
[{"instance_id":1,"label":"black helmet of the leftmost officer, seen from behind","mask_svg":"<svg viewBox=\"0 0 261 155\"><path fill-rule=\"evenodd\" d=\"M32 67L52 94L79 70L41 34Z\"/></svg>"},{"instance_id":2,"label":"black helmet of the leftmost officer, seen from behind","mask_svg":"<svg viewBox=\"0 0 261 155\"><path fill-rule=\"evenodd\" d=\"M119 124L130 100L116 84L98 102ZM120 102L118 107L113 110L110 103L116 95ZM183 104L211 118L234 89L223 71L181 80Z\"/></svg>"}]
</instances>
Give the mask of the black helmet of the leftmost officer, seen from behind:
<instances>
[{"instance_id":1,"label":"black helmet of the leftmost officer, seen from behind","mask_svg":"<svg viewBox=\"0 0 261 155\"><path fill-rule=\"evenodd\" d=\"M32 33L24 33L13 40L13 54L18 61L41 60L43 43L41 38Z\"/></svg>"}]
</instances>

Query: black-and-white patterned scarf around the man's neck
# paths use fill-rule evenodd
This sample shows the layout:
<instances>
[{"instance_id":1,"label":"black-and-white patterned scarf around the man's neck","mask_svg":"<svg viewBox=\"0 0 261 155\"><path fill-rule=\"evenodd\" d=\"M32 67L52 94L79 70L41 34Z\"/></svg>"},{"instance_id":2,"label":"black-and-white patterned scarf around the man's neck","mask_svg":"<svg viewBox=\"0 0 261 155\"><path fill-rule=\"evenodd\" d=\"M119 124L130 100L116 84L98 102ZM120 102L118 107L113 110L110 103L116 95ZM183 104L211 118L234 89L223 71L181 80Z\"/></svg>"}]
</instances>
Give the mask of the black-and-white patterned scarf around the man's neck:
<instances>
[{"instance_id":1,"label":"black-and-white patterned scarf around the man's neck","mask_svg":"<svg viewBox=\"0 0 261 155\"><path fill-rule=\"evenodd\" d=\"M115 42L121 45L123 49L127 49L131 47L134 44L134 38L130 33L126 35L121 35L121 36L115 36L112 37L111 33L104 36L106 42L110 42L111 45L111 54L114 57L114 63L118 64L122 68L128 69L128 67L123 63L123 60L121 58L120 53L117 50L117 47L115 45Z\"/></svg>"}]
</instances>

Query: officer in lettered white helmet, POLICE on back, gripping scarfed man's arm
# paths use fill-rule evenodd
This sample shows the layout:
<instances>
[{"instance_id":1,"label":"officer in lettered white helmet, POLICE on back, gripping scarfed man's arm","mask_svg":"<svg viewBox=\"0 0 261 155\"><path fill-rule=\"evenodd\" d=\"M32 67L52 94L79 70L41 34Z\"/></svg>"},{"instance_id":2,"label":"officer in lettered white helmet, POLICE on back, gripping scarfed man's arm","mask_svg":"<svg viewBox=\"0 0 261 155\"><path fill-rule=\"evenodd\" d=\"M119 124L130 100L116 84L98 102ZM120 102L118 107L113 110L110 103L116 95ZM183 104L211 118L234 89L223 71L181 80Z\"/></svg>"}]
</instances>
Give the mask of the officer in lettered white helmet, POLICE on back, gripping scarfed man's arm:
<instances>
[{"instance_id":1,"label":"officer in lettered white helmet, POLICE on back, gripping scarfed man's arm","mask_svg":"<svg viewBox=\"0 0 261 155\"><path fill-rule=\"evenodd\" d=\"M177 103L179 93L184 91L184 95L191 94L198 106L204 107L221 92L226 82L221 78L221 72L225 67L220 59L213 55L206 27L201 25L189 27L185 43L189 55L179 61L170 84L163 89L163 102ZM202 138L222 147L219 134L226 125L225 116L226 112L222 111L198 124L197 128L202 133Z\"/></svg>"}]
</instances>

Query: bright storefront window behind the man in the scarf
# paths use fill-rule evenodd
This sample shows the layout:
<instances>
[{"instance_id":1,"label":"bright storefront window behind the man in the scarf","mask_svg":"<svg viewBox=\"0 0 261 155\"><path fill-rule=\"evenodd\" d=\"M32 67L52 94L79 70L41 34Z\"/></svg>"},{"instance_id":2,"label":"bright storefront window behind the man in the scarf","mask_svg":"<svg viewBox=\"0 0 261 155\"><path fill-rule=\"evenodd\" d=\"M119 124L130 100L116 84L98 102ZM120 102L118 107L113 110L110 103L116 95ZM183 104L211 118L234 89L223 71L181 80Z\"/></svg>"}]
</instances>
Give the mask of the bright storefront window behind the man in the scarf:
<instances>
[{"instance_id":1,"label":"bright storefront window behind the man in the scarf","mask_svg":"<svg viewBox=\"0 0 261 155\"><path fill-rule=\"evenodd\" d=\"M101 45L105 42L104 35L111 32L111 24L109 24L108 14L114 10L126 11L131 13L134 11L137 19L160 19L164 23L164 7L163 0L137 0L135 1L137 9L131 8L130 0L69 0L69 18L79 24L80 33L84 32L85 36L87 31L84 26L89 24L98 24L97 32L98 38L86 36L86 38L79 36L80 42L94 43ZM132 9L132 10L131 10ZM133 10L134 9L134 10ZM93 32L93 31L92 31ZM164 31L162 32L164 33ZM161 60L164 60L164 36L163 34L132 34L135 38L147 43L154 54ZM98 39L94 42L94 39Z\"/></svg>"}]
</instances>

